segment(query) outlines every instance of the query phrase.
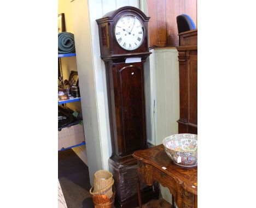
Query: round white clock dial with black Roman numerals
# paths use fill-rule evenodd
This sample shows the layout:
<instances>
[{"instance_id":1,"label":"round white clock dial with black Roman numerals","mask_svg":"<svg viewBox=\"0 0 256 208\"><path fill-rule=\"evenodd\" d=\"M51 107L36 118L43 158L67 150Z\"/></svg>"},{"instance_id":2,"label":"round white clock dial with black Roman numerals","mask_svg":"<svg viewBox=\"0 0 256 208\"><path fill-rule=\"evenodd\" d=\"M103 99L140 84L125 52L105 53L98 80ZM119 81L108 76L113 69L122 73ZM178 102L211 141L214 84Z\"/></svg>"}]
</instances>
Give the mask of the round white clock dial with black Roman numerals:
<instances>
[{"instance_id":1,"label":"round white clock dial with black Roman numerals","mask_svg":"<svg viewBox=\"0 0 256 208\"><path fill-rule=\"evenodd\" d=\"M141 21L133 15L124 15L115 24L115 38L125 50L132 51L141 46L144 33Z\"/></svg>"}]
</instances>

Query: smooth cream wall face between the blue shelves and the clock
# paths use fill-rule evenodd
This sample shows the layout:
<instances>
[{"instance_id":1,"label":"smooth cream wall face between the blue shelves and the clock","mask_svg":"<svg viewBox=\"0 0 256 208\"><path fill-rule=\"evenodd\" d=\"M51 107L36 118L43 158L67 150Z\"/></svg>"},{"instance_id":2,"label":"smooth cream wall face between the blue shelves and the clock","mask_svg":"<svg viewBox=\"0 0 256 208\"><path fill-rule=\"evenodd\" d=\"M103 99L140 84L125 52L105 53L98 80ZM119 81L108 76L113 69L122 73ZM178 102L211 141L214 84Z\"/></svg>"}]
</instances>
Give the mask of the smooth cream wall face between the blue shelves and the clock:
<instances>
[{"instance_id":1,"label":"smooth cream wall face between the blue shelves and the clock","mask_svg":"<svg viewBox=\"0 0 256 208\"><path fill-rule=\"evenodd\" d=\"M86 152L90 181L93 183L94 173L104 169L104 157L108 157L108 148L102 148L101 126L98 119L98 100L96 75L92 59L91 32L89 21L89 8L86 0L75 0L70 3L77 53L77 70L81 105L86 138ZM108 142L107 139L106 143ZM107 144L108 145L108 144ZM104 149L104 152L102 151Z\"/></svg>"}]
</instances>

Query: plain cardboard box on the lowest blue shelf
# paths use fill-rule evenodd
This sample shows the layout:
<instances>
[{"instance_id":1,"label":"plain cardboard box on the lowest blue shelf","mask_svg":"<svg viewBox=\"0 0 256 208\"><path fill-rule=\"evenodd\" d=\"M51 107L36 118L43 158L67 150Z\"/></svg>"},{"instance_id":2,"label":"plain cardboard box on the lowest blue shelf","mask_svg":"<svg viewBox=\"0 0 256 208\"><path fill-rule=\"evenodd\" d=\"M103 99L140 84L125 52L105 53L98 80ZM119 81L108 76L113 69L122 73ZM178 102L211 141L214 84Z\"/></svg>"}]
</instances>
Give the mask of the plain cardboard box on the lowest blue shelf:
<instances>
[{"instance_id":1,"label":"plain cardboard box on the lowest blue shelf","mask_svg":"<svg viewBox=\"0 0 256 208\"><path fill-rule=\"evenodd\" d=\"M58 150L69 148L85 141L84 126L77 124L61 129L58 132Z\"/></svg>"}]
</instances>

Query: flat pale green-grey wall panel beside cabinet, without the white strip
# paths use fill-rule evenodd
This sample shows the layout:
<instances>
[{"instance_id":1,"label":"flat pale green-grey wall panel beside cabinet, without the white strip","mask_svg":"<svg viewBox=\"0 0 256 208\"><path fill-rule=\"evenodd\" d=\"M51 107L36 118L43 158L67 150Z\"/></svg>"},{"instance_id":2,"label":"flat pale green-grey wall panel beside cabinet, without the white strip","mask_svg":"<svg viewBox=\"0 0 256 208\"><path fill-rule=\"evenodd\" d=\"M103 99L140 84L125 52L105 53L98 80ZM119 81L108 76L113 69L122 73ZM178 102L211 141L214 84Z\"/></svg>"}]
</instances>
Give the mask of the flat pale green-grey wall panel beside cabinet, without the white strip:
<instances>
[{"instance_id":1,"label":"flat pale green-grey wall panel beside cabinet, without the white strip","mask_svg":"<svg viewBox=\"0 0 256 208\"><path fill-rule=\"evenodd\" d=\"M179 63L176 48L158 48L155 53L156 144L178 133Z\"/></svg>"}]
</instances>

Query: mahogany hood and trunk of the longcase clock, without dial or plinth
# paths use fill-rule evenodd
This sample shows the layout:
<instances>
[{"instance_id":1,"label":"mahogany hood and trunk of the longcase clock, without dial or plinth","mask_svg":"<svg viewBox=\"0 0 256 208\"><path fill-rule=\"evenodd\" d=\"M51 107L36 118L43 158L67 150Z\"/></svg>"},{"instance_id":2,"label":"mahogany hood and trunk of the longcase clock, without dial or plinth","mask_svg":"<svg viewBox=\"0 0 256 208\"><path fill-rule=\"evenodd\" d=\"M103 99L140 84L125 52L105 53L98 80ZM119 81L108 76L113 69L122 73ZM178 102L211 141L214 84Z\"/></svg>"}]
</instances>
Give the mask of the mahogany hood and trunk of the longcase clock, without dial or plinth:
<instances>
[{"instance_id":1,"label":"mahogany hood and trunk of the longcase clock, without dial or plinth","mask_svg":"<svg viewBox=\"0 0 256 208\"><path fill-rule=\"evenodd\" d=\"M122 48L114 35L115 24L125 15L136 16L144 30L141 46L132 51ZM148 50L149 18L135 7L122 7L96 20L101 58L106 66L112 159L115 161L147 148L144 62L151 53ZM125 63L129 57L139 57L141 62Z\"/></svg>"}]
</instances>

